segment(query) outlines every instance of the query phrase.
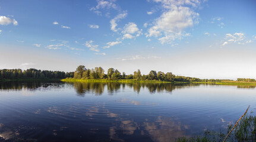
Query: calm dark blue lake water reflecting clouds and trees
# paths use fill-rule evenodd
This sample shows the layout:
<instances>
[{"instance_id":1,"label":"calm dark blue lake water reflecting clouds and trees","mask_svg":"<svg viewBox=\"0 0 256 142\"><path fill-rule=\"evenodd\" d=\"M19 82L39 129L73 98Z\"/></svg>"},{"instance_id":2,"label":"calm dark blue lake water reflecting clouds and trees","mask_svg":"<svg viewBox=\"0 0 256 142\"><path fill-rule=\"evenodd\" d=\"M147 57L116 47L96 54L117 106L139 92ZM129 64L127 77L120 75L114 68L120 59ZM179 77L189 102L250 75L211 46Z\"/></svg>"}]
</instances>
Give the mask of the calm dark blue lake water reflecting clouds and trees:
<instances>
[{"instance_id":1,"label":"calm dark blue lake water reflecting clouds and trees","mask_svg":"<svg viewBox=\"0 0 256 142\"><path fill-rule=\"evenodd\" d=\"M0 83L0 141L175 141L225 131L255 86Z\"/></svg>"}]
</instances>

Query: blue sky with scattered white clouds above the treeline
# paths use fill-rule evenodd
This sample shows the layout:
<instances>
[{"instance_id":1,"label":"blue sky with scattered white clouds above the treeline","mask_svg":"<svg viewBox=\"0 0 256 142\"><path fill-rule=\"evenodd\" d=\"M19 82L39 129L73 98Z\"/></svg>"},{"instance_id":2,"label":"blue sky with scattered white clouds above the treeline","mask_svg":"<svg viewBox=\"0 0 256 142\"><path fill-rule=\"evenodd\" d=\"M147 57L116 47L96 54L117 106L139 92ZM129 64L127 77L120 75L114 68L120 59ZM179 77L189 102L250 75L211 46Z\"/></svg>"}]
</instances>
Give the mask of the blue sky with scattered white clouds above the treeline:
<instances>
[{"instance_id":1,"label":"blue sky with scattered white clouds above the treeline","mask_svg":"<svg viewBox=\"0 0 256 142\"><path fill-rule=\"evenodd\" d=\"M0 1L0 69L256 78L256 1Z\"/></svg>"}]
</instances>

